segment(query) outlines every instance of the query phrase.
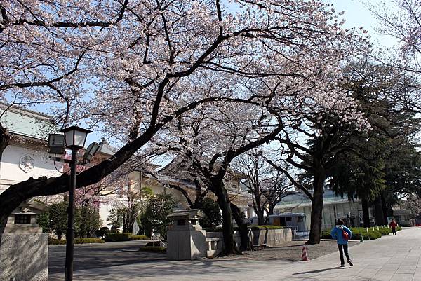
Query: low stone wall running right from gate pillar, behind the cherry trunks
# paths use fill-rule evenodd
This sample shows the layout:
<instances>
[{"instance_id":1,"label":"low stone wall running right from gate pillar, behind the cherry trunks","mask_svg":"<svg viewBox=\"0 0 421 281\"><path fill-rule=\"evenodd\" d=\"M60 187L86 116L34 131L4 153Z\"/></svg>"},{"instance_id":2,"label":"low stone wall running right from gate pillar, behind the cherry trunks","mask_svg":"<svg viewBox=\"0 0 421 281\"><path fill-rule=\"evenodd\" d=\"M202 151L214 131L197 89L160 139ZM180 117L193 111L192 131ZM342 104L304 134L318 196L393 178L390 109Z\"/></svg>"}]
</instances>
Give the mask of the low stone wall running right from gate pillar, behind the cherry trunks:
<instances>
[{"instance_id":1,"label":"low stone wall running right from gate pillar, behind the cherry trunks","mask_svg":"<svg viewBox=\"0 0 421 281\"><path fill-rule=\"evenodd\" d=\"M293 234L290 228L251 231L253 246L278 247L284 242L292 240ZM208 243L208 258L218 255L224 249L224 235L222 232L206 232L206 242ZM240 233L238 231L234 232L234 242L237 247L241 244Z\"/></svg>"}]
</instances>

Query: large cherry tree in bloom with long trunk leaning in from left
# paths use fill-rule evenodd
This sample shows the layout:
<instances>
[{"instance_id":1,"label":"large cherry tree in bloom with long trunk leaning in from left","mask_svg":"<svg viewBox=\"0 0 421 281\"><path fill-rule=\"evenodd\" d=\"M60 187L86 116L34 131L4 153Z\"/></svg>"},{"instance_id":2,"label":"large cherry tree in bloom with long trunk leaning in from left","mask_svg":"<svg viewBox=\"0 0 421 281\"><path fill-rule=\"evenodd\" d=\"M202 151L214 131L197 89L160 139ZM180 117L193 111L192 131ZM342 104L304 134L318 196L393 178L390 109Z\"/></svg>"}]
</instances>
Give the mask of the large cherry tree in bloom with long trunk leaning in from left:
<instances>
[{"instance_id":1,"label":"large cherry tree in bloom with long trunk leaning in from left","mask_svg":"<svg viewBox=\"0 0 421 281\"><path fill-rule=\"evenodd\" d=\"M112 158L79 174L78 188L112 173L203 104L254 103L282 112L301 104L339 111L348 103L334 81L340 62L363 50L364 39L343 30L329 6L237 4L232 13L218 0L1 1L0 95L51 104L58 124L84 122L120 144ZM222 77L208 83L215 76ZM286 94L250 91L262 88L253 78ZM67 191L68 181L62 175L14 184L0 194L0 221L27 198Z\"/></svg>"}]
</instances>

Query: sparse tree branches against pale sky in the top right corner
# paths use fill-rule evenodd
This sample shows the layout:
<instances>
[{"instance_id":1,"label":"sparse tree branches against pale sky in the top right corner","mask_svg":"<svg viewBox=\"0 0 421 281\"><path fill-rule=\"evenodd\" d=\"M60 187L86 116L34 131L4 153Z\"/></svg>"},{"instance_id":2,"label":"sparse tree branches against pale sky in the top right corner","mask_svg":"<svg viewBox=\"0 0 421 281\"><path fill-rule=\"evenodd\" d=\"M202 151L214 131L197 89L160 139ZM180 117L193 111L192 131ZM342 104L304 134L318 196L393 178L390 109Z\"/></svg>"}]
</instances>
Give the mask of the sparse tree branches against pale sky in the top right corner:
<instances>
[{"instance_id":1,"label":"sparse tree branches against pale sky in the top right corner","mask_svg":"<svg viewBox=\"0 0 421 281\"><path fill-rule=\"evenodd\" d=\"M406 109L421 112L421 5L417 0L393 0L387 3L368 5L380 21L377 32L398 41L396 50L386 50L375 55L389 71L390 81L404 85L405 92L395 92L394 100L403 102ZM384 72L385 70L383 70ZM415 79L414 79L415 78Z\"/></svg>"}]
</instances>

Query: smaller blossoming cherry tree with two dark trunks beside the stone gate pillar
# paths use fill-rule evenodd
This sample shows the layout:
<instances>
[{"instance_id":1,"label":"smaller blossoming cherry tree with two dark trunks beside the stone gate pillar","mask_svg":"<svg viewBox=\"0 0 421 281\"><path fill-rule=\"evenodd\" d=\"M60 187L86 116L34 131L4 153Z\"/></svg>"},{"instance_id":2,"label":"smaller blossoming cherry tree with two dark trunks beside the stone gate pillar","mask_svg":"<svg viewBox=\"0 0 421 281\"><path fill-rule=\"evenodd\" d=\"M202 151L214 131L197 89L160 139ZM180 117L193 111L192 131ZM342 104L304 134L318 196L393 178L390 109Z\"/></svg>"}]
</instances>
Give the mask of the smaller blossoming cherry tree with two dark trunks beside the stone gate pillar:
<instances>
[{"instance_id":1,"label":"smaller blossoming cherry tree with two dark trunks beside the stone gate pillar","mask_svg":"<svg viewBox=\"0 0 421 281\"><path fill-rule=\"evenodd\" d=\"M178 142L169 142L168 149L176 151L192 165L206 189L215 194L222 211L225 253L235 252L232 219L239 226L241 249L248 245L247 226L239 207L229 197L229 165L236 156L254 149L274 138L282 128L274 109L262 111L248 104L233 104L230 109L206 107L190 111L178 119ZM235 108L233 108L235 107ZM233 110L234 109L234 110Z\"/></svg>"}]
</instances>

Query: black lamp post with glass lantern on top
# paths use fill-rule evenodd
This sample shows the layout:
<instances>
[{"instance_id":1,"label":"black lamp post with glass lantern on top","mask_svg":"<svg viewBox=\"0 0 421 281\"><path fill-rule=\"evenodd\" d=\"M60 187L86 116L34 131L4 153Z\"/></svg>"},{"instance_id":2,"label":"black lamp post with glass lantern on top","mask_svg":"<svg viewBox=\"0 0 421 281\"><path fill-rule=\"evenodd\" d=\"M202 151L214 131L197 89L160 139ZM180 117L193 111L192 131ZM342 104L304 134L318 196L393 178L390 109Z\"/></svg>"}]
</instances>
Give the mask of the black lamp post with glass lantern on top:
<instances>
[{"instance_id":1,"label":"black lamp post with glass lantern on top","mask_svg":"<svg viewBox=\"0 0 421 281\"><path fill-rule=\"evenodd\" d=\"M76 189L76 152L85 146L86 135L92 132L72 126L61 130L65 134L65 143L72 150L70 160L70 188L69 207L67 208L67 233L66 233L66 267L65 281L73 280L73 249L74 249L74 189Z\"/></svg>"}]
</instances>

